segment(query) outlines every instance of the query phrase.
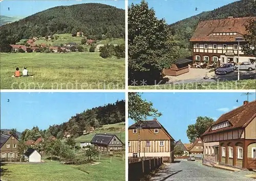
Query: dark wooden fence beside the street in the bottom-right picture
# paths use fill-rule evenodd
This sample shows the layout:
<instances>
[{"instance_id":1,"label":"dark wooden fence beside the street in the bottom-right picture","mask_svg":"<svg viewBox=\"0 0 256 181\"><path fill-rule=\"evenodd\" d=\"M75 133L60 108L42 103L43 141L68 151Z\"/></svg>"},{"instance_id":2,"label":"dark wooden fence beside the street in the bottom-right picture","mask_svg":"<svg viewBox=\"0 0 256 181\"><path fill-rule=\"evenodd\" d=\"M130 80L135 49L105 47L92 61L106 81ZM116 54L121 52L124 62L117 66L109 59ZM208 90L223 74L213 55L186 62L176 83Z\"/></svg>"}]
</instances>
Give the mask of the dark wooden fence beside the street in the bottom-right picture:
<instances>
[{"instance_id":1,"label":"dark wooden fence beside the street in the bottom-right picture","mask_svg":"<svg viewBox=\"0 0 256 181\"><path fill-rule=\"evenodd\" d=\"M141 158L129 158L132 159L133 162L129 163L128 168L128 180L140 180L144 175L149 174L151 171L158 169L162 163L162 157L156 157L150 159L150 157L145 157L143 160ZM135 162L135 159L141 160L139 162Z\"/></svg>"}]
</instances>

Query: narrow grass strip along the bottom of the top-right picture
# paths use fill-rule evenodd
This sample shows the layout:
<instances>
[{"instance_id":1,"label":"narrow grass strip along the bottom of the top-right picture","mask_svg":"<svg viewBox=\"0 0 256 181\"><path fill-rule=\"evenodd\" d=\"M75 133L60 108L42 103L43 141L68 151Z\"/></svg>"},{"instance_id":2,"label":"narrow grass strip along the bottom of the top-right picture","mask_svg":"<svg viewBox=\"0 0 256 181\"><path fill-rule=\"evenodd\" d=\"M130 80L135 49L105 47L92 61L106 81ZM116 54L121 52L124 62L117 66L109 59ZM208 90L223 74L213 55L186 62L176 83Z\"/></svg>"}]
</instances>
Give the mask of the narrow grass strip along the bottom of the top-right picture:
<instances>
[{"instance_id":1,"label":"narrow grass strip along the bottom of the top-right picture","mask_svg":"<svg viewBox=\"0 0 256 181\"><path fill-rule=\"evenodd\" d=\"M256 80L129 86L129 89L256 89Z\"/></svg>"}]
</instances>

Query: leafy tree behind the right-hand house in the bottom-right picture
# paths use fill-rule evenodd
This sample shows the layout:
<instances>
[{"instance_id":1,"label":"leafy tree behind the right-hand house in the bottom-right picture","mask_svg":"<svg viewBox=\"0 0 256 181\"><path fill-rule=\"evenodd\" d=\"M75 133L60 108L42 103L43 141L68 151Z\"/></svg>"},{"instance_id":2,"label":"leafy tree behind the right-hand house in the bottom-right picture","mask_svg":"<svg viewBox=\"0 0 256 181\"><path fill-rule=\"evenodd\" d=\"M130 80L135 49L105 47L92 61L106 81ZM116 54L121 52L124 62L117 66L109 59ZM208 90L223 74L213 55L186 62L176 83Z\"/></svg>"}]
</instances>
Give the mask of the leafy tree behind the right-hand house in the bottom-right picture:
<instances>
[{"instance_id":1,"label":"leafy tree behind the right-hand house in the bottom-right picture","mask_svg":"<svg viewBox=\"0 0 256 181\"><path fill-rule=\"evenodd\" d=\"M187 127L187 138L190 143L194 143L202 134L212 125L214 120L208 117L197 117L195 124L190 124Z\"/></svg>"}]
</instances>

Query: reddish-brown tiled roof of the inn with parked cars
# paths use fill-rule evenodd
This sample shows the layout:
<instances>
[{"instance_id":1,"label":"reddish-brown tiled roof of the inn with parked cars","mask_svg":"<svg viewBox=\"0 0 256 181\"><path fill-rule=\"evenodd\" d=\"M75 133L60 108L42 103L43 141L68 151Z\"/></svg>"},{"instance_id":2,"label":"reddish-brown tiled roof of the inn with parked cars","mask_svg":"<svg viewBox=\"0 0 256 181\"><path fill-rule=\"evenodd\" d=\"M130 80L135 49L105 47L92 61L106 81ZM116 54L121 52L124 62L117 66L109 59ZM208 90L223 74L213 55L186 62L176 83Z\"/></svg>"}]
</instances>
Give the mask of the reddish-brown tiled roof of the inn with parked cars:
<instances>
[{"instance_id":1,"label":"reddish-brown tiled roof of the inn with parked cars","mask_svg":"<svg viewBox=\"0 0 256 181\"><path fill-rule=\"evenodd\" d=\"M246 34L245 25L255 17L240 17L200 21L190 41L236 41L236 37ZM237 32L238 35L214 36L211 33Z\"/></svg>"}]
</instances>

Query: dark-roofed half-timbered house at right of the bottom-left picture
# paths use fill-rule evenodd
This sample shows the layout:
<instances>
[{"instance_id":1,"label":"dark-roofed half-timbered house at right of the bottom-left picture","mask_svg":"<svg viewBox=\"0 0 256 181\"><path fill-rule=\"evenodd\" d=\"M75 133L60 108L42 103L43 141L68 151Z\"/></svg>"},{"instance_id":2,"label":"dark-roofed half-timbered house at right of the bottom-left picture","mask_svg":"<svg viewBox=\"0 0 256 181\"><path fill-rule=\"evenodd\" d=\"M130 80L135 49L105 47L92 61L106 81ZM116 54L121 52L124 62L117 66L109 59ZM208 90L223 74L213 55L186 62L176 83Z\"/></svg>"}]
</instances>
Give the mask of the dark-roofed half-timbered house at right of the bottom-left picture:
<instances>
[{"instance_id":1,"label":"dark-roofed half-timbered house at right of the bottom-left picture","mask_svg":"<svg viewBox=\"0 0 256 181\"><path fill-rule=\"evenodd\" d=\"M91 144L94 147L102 151L116 151L122 150L123 143L115 134L95 134Z\"/></svg>"}]
</instances>

